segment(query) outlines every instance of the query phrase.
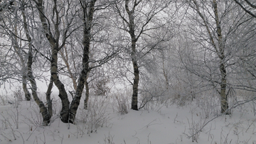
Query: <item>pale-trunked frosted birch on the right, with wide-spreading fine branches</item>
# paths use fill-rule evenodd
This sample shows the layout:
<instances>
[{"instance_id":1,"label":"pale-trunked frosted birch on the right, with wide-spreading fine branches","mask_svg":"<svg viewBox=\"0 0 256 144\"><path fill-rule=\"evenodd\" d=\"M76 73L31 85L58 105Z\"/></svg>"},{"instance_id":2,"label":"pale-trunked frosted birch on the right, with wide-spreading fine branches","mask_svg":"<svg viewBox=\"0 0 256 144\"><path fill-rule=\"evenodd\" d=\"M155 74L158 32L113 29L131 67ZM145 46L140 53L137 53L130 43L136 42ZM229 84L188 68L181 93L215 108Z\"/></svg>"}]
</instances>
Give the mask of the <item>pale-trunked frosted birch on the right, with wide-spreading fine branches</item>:
<instances>
[{"instance_id":1,"label":"pale-trunked frosted birch on the right, with wide-spreading fine branches","mask_svg":"<svg viewBox=\"0 0 256 144\"><path fill-rule=\"evenodd\" d=\"M214 88L219 87L216 90L220 95L221 113L229 114L228 94L232 89L232 81L228 79L231 74L229 67L234 65L233 53L238 52L238 49L230 45L230 37L242 24L250 21L250 18L239 11L232 1L213 0L206 3L193 0L189 6L197 14L189 16L194 22L194 26L189 26L193 35L191 40L198 44L197 52L201 53L201 60L196 57L194 60L202 62L196 64L197 69L191 63L194 60L190 60L192 67L189 69L193 74L210 82Z\"/></svg>"}]
</instances>

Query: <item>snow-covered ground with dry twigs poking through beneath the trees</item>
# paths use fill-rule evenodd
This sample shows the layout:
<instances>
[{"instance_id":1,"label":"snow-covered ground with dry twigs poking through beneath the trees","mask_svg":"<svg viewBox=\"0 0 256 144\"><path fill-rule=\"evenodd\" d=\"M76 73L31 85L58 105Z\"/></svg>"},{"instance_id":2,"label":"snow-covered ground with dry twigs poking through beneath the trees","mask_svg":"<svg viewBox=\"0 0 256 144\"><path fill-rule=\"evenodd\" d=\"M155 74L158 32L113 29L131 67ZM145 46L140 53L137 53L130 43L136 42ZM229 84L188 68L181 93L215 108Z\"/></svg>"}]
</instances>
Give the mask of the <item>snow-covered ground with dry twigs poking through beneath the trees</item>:
<instances>
[{"instance_id":1,"label":"snow-covered ground with dry twigs poking through beneath the trees","mask_svg":"<svg viewBox=\"0 0 256 144\"><path fill-rule=\"evenodd\" d=\"M128 113L121 114L119 99L116 96L92 97L89 110L82 109L80 104L76 125L60 121L60 103L54 99L53 121L45 127L41 126L42 118L34 101L0 103L0 143L256 144L252 102L236 107L230 116L208 116L210 108L196 103L177 106L156 102L147 105L147 109L128 109Z\"/></svg>"}]
</instances>

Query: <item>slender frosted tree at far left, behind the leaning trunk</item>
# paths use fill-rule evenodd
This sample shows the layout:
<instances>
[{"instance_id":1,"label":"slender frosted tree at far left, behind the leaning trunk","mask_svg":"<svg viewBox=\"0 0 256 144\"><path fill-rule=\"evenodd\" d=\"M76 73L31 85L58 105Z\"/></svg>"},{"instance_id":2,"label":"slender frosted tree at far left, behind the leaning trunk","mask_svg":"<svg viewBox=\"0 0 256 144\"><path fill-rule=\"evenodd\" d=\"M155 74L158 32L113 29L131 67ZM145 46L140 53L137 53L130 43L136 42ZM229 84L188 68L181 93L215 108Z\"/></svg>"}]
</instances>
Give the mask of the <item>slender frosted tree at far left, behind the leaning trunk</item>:
<instances>
[{"instance_id":1,"label":"slender frosted tree at far left, behind the leaning trunk","mask_svg":"<svg viewBox=\"0 0 256 144\"><path fill-rule=\"evenodd\" d=\"M23 92L25 94L26 100L29 101L31 99L31 94L27 88L26 55L23 52L23 48L21 48L22 47L21 32L18 33L18 31L22 31L21 21L18 20L18 16L20 16L18 15L18 13L20 11L18 10L17 4L14 1L4 1L3 3L1 3L0 6L1 6L0 21L1 21L1 28L3 28L2 33L3 35L6 35L7 37L9 37L9 40L6 40L6 43L8 43L11 40L11 45L13 46L11 48L13 48L14 53L19 58L18 60L19 62L17 62L17 64L20 64L21 66L21 70L19 73L21 74L22 88L23 88Z\"/></svg>"}]
</instances>

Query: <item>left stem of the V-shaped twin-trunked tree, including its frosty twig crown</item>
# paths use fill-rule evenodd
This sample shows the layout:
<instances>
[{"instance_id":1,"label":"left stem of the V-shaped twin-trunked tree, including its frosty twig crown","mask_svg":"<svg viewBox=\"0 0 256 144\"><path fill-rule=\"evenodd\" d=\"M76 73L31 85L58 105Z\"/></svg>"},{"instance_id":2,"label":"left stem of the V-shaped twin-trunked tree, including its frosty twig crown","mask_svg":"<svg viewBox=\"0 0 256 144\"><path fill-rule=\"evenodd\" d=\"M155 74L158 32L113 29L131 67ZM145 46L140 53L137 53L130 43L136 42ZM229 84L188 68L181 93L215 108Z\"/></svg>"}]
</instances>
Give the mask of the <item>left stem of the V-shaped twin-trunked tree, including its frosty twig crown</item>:
<instances>
[{"instance_id":1,"label":"left stem of the V-shaped twin-trunked tree, including its frosty twig crown","mask_svg":"<svg viewBox=\"0 0 256 144\"><path fill-rule=\"evenodd\" d=\"M60 82L58 77L58 52L64 47L66 40L70 36L73 30L70 28L73 26L73 19L75 18L76 9L73 7L73 1L34 1L36 8L38 9L38 15L41 20L43 33L46 35L48 42L50 43L51 49L51 66L50 74L51 79L55 86L59 90L59 97L62 101L62 109L60 111L61 121L64 123L72 122L69 121L70 117L70 101L68 100L68 94L65 91L64 84ZM45 7L48 4L51 6ZM47 9L50 9L52 13L47 13ZM59 13L62 9L65 9L65 13ZM70 13L70 16L68 15ZM63 24L62 17L65 17L65 27L62 28ZM70 18L69 18L70 17ZM68 33L70 32L70 33Z\"/></svg>"}]
</instances>

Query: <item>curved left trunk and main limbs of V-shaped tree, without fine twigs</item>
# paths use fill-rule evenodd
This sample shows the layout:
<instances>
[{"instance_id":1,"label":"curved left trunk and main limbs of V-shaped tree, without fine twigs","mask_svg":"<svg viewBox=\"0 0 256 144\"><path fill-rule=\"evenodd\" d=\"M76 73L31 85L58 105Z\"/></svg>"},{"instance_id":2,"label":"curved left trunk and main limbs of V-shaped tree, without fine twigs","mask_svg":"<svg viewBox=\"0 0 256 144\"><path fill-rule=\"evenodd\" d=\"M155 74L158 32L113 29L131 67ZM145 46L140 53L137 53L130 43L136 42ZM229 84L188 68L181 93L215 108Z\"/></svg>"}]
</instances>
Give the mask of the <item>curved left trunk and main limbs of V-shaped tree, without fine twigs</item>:
<instances>
[{"instance_id":1,"label":"curved left trunk and main limbs of V-shaped tree, without fine twigs","mask_svg":"<svg viewBox=\"0 0 256 144\"><path fill-rule=\"evenodd\" d=\"M69 106L70 101L68 100L68 94L65 91L64 84L60 82L60 79L58 77L58 51L63 47L63 45L59 45L59 38L60 38L60 31L58 30L60 21L59 21L59 13L57 11L57 1L53 1L53 16L56 17L56 22L54 23L55 28L55 36L54 38L53 33L50 32L50 28L48 26L48 21L46 21L46 15L43 13L43 0L35 1L36 7L38 9L39 17L41 19L41 24L43 31L46 35L46 38L48 39L48 42L50 43L51 47L51 60L50 60L50 75L53 78L53 82L55 86L58 88L59 91L59 97L61 99L62 103L62 109L60 110L60 120L63 121L63 123L68 123L69 119ZM53 20L53 19L52 19ZM67 31L66 31L67 32ZM65 43L66 33L63 35L63 43Z\"/></svg>"}]
</instances>

